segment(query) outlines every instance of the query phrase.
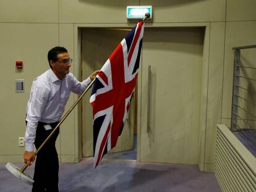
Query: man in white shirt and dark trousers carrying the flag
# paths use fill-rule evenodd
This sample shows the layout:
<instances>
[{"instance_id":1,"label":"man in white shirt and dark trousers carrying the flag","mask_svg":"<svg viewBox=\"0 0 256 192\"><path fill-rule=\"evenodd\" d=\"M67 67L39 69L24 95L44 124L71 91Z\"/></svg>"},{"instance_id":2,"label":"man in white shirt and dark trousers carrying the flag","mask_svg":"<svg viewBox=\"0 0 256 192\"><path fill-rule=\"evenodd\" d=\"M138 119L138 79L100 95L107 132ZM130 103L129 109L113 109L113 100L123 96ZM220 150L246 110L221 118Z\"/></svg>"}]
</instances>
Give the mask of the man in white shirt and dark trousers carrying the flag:
<instances>
[{"instance_id":1,"label":"man in white shirt and dark trousers carrying the flag","mask_svg":"<svg viewBox=\"0 0 256 192\"><path fill-rule=\"evenodd\" d=\"M51 69L33 80L27 104L23 158L28 165L35 161L33 145L38 149L61 120L70 92L81 94L99 72L97 70L86 80L79 82L69 73L72 59L67 49L59 46L49 50L48 62ZM58 135L59 130L38 152L33 177L34 192L58 191L59 160L55 148Z\"/></svg>"}]
</instances>

